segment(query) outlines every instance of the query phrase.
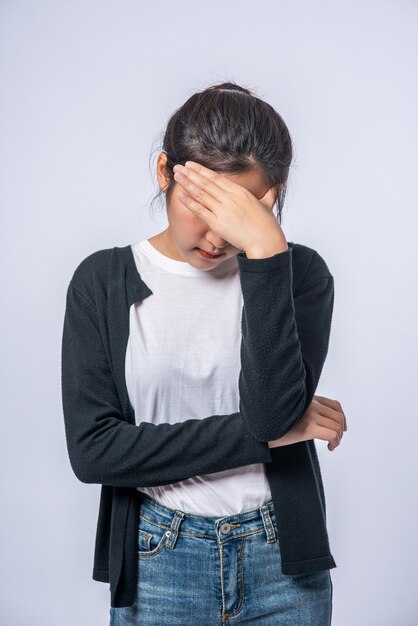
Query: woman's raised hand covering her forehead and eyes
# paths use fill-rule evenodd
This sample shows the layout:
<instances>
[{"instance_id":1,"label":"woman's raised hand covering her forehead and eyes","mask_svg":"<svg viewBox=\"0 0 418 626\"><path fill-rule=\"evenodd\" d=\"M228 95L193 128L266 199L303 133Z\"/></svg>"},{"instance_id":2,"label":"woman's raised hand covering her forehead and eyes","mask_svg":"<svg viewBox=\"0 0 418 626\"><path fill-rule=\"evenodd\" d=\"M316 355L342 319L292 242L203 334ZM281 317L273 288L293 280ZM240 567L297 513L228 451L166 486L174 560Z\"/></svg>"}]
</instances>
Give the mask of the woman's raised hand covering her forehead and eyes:
<instances>
[{"instance_id":1,"label":"woman's raised hand covering her forehead and eyes","mask_svg":"<svg viewBox=\"0 0 418 626\"><path fill-rule=\"evenodd\" d=\"M273 187L258 200L242 185L199 163L187 161L186 166L177 164L173 169L182 187L181 202L223 239L246 253L287 249L286 237L272 213Z\"/></svg>"}]
</instances>

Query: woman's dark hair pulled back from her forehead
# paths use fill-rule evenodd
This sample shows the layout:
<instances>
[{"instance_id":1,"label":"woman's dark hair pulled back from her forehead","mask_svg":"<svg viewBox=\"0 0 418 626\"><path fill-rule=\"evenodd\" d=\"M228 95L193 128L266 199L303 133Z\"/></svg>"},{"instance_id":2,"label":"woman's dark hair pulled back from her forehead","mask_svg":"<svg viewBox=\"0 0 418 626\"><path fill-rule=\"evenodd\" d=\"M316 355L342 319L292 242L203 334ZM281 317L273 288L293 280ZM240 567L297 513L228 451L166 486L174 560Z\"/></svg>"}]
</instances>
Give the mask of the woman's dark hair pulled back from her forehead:
<instances>
[{"instance_id":1,"label":"woman's dark hair pulled back from her forehead","mask_svg":"<svg viewBox=\"0 0 418 626\"><path fill-rule=\"evenodd\" d=\"M292 141L282 117L249 89L224 82L194 93L169 119L161 150L167 154L169 182L153 201L163 193L169 200L176 163L196 161L234 174L258 169L266 184L276 188L276 218L281 223Z\"/></svg>"}]
</instances>

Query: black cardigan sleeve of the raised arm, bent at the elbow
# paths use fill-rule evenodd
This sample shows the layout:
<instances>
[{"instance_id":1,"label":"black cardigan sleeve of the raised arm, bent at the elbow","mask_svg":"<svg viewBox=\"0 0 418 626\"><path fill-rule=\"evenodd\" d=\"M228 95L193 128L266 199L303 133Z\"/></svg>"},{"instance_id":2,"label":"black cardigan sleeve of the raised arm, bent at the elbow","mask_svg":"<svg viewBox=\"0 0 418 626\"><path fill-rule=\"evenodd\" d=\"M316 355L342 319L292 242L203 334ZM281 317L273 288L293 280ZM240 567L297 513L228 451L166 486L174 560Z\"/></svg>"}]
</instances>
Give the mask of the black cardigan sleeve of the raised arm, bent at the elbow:
<instances>
[{"instance_id":1,"label":"black cardigan sleeve of the raised arm, bent at the elbow","mask_svg":"<svg viewBox=\"0 0 418 626\"><path fill-rule=\"evenodd\" d=\"M312 251L293 290L293 249L267 258L238 253L241 319L240 413L257 441L283 437L312 402L328 351L334 280Z\"/></svg>"}]
</instances>

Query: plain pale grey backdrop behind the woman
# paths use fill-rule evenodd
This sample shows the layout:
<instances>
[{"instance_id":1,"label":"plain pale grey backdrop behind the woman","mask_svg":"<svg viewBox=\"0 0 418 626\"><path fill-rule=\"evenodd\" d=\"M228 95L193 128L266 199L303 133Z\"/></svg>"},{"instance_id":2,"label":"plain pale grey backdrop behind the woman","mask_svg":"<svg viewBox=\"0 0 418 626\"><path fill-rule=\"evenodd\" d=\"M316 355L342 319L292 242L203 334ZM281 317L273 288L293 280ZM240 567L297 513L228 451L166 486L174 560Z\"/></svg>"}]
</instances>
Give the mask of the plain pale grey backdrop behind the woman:
<instances>
[{"instance_id":1,"label":"plain pale grey backdrop behind the woman","mask_svg":"<svg viewBox=\"0 0 418 626\"><path fill-rule=\"evenodd\" d=\"M149 210L161 133L231 79L288 124L283 229L335 278L318 393L348 431L334 452L317 441L333 625L418 623L417 17L411 0L2 0L2 624L108 623L100 487L76 479L64 438L65 293L89 253L165 228Z\"/></svg>"}]
</instances>

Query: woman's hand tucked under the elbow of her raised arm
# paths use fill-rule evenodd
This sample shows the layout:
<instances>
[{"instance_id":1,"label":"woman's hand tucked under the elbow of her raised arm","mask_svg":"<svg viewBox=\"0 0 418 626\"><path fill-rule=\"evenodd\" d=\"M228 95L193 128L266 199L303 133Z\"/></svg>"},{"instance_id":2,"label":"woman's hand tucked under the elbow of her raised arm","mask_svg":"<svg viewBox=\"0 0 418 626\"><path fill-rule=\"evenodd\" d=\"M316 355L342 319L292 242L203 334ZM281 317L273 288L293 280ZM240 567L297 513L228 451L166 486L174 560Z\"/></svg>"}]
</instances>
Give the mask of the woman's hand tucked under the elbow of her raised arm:
<instances>
[{"instance_id":1,"label":"woman's hand tucked under the elbow of her raised arm","mask_svg":"<svg viewBox=\"0 0 418 626\"><path fill-rule=\"evenodd\" d=\"M269 448L279 448L308 439L328 441L331 452L341 443L347 420L338 400L314 396L312 402L296 424L280 439L268 442Z\"/></svg>"}]
</instances>

